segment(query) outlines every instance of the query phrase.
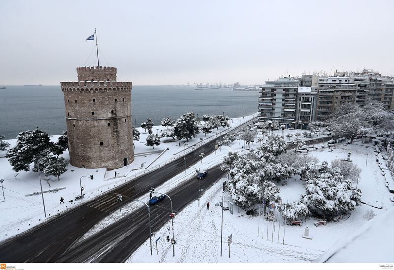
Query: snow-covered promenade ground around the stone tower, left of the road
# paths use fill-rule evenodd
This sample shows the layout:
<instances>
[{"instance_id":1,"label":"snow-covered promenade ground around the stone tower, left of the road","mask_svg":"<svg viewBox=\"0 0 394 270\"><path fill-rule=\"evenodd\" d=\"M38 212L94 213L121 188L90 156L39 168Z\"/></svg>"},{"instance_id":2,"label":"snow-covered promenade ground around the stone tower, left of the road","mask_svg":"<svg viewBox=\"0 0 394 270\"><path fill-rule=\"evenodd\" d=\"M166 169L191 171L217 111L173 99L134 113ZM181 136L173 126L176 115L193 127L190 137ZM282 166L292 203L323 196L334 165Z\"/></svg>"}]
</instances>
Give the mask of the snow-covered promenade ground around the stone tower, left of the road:
<instances>
[{"instance_id":1,"label":"snow-covered promenade ground around the stone tower, left of the road","mask_svg":"<svg viewBox=\"0 0 394 270\"><path fill-rule=\"evenodd\" d=\"M203 133L199 133L197 137L189 140L189 142L186 142L184 139L180 141L173 141L172 138L162 138L161 144L159 146L155 146L154 149L144 145L148 133L146 133L144 129L138 128L141 135L140 140L135 142L135 160L128 166L112 171L106 171L105 168L85 169L77 168L69 164L67 167L68 170L60 176L60 181L58 181L57 177L46 177L41 173L43 191L65 188L57 192L44 193L46 218L44 216L41 195L25 196L41 191L38 173L33 172L32 170L19 171L19 173L16 173L12 170L12 166L9 164L8 159L5 158L6 152L0 151L0 179L5 179L3 183L5 200L3 200L2 194L0 194L0 211L3 216L0 221L0 226L2 228L0 241L32 228L33 226L52 218L57 214L64 213L64 211L71 207L78 206L82 201L75 201L74 199L75 196L80 195L81 193L79 183L81 176L94 176L93 181L89 178L81 179L82 186L84 187L84 193L86 194L84 198L85 202L86 200L92 200L101 193L123 184L126 181L132 181L146 172L158 169L166 162L172 161L184 153L193 151L195 145L198 146L201 143L206 143L207 141L215 139L221 132L226 132L228 129L232 130L233 128L251 120L254 116L256 116L256 114L231 119L230 128L221 127L218 130L215 130L215 133L212 132L207 134L206 137ZM154 126L152 130L160 133L161 130L165 129L166 128L162 126ZM59 136L51 136L51 140L57 141L58 137ZM7 140L7 142L11 144L10 147L13 147L16 144L16 139ZM159 155L167 148L169 148L169 150L165 151L164 154L159 157ZM220 151L217 152L220 153ZM68 150L62 156L68 160ZM138 169L141 168L142 163L144 164L142 169ZM33 164L31 167L33 167ZM116 178L115 171L117 172ZM64 204L60 204L61 197L64 199ZM74 202L71 204L69 202L70 200L74 200ZM114 203L116 203L116 201Z\"/></svg>"}]
</instances>

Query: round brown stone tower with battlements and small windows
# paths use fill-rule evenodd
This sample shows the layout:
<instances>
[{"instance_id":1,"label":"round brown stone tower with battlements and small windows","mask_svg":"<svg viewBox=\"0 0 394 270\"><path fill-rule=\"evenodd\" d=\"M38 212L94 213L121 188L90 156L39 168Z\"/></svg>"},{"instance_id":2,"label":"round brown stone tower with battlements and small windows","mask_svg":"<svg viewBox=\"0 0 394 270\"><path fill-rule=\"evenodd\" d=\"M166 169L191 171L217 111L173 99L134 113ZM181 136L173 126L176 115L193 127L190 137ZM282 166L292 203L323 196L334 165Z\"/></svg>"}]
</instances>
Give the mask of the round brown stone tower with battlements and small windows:
<instances>
[{"instance_id":1,"label":"round brown stone tower with battlements and small windows","mask_svg":"<svg viewBox=\"0 0 394 270\"><path fill-rule=\"evenodd\" d=\"M77 82L61 82L70 163L116 169L134 161L131 82L117 82L116 68L79 67Z\"/></svg>"}]
</instances>

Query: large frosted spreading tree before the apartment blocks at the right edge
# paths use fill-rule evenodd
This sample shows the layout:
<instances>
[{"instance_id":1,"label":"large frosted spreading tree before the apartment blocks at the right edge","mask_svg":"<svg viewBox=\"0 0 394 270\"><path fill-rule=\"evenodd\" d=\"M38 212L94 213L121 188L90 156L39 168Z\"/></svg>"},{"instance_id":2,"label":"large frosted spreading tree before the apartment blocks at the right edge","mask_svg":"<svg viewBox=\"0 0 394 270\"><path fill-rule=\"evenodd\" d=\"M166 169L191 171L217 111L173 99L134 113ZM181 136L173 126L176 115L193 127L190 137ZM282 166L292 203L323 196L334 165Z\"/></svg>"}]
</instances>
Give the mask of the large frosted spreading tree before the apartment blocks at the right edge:
<instances>
[{"instance_id":1,"label":"large frosted spreading tree before the apartment blocks at the right edge","mask_svg":"<svg viewBox=\"0 0 394 270\"><path fill-rule=\"evenodd\" d=\"M384 108L384 104L366 99L365 105L345 102L327 120L334 135L350 138L350 143L357 135L383 134L394 129L394 114Z\"/></svg>"}]
</instances>

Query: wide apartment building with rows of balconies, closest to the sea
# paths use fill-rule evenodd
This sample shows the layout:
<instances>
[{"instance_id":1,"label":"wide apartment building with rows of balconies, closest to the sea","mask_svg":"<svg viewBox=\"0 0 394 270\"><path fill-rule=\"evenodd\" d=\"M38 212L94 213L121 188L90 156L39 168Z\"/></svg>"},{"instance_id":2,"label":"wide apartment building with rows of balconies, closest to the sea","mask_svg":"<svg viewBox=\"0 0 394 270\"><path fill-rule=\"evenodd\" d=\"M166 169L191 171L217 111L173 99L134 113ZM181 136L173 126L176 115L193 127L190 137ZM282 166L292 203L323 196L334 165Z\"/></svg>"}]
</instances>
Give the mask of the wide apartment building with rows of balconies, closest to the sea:
<instances>
[{"instance_id":1,"label":"wide apartment building with rows of balconies, closest to the sea","mask_svg":"<svg viewBox=\"0 0 394 270\"><path fill-rule=\"evenodd\" d=\"M266 81L259 91L259 121L295 121L299 84L298 79L290 77Z\"/></svg>"}]
</instances>

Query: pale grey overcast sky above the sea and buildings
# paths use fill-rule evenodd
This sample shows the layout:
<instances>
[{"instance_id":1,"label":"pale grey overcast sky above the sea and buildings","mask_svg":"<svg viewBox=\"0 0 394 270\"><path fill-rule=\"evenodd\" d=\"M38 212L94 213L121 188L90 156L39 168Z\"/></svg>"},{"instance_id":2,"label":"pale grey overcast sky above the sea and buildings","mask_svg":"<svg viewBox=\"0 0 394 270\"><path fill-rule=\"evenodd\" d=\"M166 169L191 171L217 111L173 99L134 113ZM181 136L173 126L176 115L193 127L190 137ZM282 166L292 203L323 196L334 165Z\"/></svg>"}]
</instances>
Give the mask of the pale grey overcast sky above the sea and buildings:
<instances>
[{"instance_id":1,"label":"pale grey overcast sky above the sea and buildings","mask_svg":"<svg viewBox=\"0 0 394 270\"><path fill-rule=\"evenodd\" d=\"M261 84L286 72L394 75L394 1L0 0L0 85L118 68L134 85Z\"/></svg>"}]
</instances>

